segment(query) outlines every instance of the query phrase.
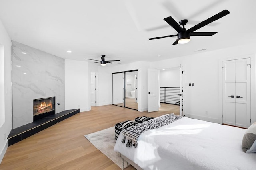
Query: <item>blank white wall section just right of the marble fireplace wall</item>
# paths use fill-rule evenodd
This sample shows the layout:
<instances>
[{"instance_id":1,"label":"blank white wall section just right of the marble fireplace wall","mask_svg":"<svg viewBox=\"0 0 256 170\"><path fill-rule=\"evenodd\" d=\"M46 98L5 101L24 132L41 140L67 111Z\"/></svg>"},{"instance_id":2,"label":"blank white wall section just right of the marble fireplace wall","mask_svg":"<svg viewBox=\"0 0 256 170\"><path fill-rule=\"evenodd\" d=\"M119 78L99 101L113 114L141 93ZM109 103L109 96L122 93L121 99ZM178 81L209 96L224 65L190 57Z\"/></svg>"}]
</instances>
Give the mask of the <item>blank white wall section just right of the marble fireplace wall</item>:
<instances>
[{"instance_id":1,"label":"blank white wall section just right of the marble fireplace wall","mask_svg":"<svg viewBox=\"0 0 256 170\"><path fill-rule=\"evenodd\" d=\"M90 72L87 61L65 59L65 110L89 111Z\"/></svg>"}]
</instances>

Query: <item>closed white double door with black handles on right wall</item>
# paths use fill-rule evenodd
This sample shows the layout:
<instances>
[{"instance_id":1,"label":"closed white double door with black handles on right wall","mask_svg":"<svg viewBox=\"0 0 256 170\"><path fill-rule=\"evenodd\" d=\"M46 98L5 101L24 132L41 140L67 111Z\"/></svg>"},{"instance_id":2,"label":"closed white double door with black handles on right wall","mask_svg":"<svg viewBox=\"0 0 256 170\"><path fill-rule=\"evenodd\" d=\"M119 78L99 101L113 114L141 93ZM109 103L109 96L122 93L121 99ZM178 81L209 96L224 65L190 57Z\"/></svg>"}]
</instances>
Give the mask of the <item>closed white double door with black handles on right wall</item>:
<instances>
[{"instance_id":1,"label":"closed white double door with black handles on right wall","mask_svg":"<svg viewBox=\"0 0 256 170\"><path fill-rule=\"evenodd\" d=\"M250 126L250 59L222 62L222 123Z\"/></svg>"}]
</instances>

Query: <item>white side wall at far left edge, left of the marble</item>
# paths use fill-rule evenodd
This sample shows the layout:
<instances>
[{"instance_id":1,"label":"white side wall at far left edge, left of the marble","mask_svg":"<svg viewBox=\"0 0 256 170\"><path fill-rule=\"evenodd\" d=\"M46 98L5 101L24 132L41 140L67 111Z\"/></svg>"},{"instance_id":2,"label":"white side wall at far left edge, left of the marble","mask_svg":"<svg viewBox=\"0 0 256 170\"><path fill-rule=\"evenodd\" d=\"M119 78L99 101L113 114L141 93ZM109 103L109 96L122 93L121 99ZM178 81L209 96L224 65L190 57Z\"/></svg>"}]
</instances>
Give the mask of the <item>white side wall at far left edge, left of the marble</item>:
<instances>
[{"instance_id":1,"label":"white side wall at far left edge, left of the marble","mask_svg":"<svg viewBox=\"0 0 256 170\"><path fill-rule=\"evenodd\" d=\"M0 53L0 162L7 149L7 140L12 129L12 42L0 21L0 46L4 48L4 56ZM4 101L3 101L4 100Z\"/></svg>"}]
</instances>

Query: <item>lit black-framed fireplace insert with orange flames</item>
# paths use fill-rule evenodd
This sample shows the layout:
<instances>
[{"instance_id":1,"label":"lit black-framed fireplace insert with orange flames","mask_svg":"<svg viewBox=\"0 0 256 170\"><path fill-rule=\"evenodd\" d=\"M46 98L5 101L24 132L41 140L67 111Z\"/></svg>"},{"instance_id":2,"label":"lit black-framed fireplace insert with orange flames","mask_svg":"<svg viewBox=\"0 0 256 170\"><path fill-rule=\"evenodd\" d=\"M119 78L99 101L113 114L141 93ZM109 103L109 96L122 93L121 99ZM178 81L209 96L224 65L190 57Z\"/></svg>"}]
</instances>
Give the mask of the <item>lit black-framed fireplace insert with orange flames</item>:
<instances>
[{"instance_id":1,"label":"lit black-framed fireplace insert with orange flames","mask_svg":"<svg viewBox=\"0 0 256 170\"><path fill-rule=\"evenodd\" d=\"M55 114L55 97L33 100L33 121Z\"/></svg>"}]
</instances>

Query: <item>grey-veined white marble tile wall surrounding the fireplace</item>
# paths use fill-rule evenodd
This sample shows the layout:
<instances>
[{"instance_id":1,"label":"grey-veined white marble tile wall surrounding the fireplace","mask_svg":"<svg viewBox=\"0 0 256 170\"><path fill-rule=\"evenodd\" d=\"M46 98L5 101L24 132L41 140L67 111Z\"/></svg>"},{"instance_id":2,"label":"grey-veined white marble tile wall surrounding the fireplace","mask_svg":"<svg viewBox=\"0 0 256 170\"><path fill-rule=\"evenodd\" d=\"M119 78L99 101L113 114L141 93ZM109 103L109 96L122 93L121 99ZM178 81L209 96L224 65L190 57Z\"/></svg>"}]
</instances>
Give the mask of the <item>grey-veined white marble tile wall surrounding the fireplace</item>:
<instances>
[{"instance_id":1,"label":"grey-veined white marble tile wall surrounding the fireplace","mask_svg":"<svg viewBox=\"0 0 256 170\"><path fill-rule=\"evenodd\" d=\"M12 41L13 128L33 122L34 99L54 96L55 113L65 110L64 74L64 59Z\"/></svg>"}]
</instances>

